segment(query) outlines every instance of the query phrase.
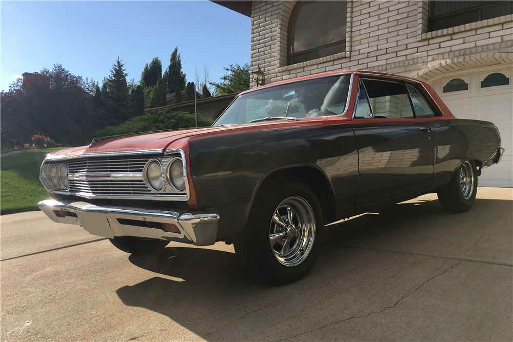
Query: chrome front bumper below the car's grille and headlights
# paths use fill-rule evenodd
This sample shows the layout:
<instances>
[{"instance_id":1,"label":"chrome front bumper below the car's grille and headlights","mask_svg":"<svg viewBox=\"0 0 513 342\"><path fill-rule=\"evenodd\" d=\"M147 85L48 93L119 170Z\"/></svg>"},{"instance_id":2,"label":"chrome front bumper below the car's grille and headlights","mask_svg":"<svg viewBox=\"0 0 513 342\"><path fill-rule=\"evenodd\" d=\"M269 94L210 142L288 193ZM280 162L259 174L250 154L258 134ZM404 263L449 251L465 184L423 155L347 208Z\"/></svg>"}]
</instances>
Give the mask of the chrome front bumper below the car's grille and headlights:
<instances>
[{"instance_id":1,"label":"chrome front bumper below the car's grille and headlights","mask_svg":"<svg viewBox=\"0 0 513 342\"><path fill-rule=\"evenodd\" d=\"M86 202L41 201L38 206L54 222L84 227L92 235L139 236L208 246L215 243L219 215L154 209L95 206ZM180 233L164 231L174 225ZM175 228L175 229L176 229Z\"/></svg>"}]
</instances>

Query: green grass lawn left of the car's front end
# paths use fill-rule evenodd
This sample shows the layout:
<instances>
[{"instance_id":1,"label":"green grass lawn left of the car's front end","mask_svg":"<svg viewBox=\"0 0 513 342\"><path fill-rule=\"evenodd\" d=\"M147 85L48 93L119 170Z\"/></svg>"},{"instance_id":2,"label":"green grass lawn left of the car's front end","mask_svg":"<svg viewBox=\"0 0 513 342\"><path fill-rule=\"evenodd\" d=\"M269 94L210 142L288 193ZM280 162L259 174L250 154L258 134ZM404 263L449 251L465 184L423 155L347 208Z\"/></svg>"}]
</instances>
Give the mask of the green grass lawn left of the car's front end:
<instances>
[{"instance_id":1,"label":"green grass lawn left of the car's front end","mask_svg":"<svg viewBox=\"0 0 513 342\"><path fill-rule=\"evenodd\" d=\"M37 202L50 198L39 180L39 167L48 152L26 151L0 159L0 215L38 210Z\"/></svg>"}]
</instances>

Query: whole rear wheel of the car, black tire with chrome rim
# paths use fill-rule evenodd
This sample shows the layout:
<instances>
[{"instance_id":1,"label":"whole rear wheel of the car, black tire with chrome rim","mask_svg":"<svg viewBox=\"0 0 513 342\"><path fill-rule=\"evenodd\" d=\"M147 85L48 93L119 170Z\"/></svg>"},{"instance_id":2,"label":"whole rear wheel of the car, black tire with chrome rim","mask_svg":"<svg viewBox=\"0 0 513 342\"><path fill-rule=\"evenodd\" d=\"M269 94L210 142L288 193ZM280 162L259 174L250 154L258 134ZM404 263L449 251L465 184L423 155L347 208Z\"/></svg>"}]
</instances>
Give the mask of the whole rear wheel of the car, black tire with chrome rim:
<instances>
[{"instance_id":1,"label":"whole rear wheel of the car, black tire with chrome rim","mask_svg":"<svg viewBox=\"0 0 513 342\"><path fill-rule=\"evenodd\" d=\"M473 160L467 160L456 170L450 183L438 191L438 199L448 212L462 213L474 204L477 190L476 163Z\"/></svg>"}]
</instances>

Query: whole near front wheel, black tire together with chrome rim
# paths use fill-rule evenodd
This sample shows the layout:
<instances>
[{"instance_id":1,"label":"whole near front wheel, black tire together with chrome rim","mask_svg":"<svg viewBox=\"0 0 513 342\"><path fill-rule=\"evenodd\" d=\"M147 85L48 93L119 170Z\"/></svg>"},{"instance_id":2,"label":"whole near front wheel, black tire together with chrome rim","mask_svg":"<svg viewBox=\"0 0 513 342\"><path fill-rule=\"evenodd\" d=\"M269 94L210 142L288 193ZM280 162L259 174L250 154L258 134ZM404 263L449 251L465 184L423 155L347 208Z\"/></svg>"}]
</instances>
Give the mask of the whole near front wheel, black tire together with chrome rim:
<instances>
[{"instance_id":1,"label":"whole near front wheel, black tire together with chrome rim","mask_svg":"<svg viewBox=\"0 0 513 342\"><path fill-rule=\"evenodd\" d=\"M319 256L323 216L317 194L301 178L268 183L255 197L244 233L233 239L241 266L274 285L305 276Z\"/></svg>"}]
</instances>

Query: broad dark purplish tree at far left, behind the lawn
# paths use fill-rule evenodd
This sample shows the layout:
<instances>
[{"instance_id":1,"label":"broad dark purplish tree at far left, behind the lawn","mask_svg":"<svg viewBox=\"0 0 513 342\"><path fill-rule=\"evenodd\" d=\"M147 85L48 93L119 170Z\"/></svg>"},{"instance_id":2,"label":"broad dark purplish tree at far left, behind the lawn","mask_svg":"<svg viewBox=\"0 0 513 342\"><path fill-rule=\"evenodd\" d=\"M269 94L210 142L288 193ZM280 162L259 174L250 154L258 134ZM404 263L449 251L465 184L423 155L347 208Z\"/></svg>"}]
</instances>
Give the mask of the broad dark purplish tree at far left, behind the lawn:
<instances>
[{"instance_id":1,"label":"broad dark purplish tree at far left, behind the lawn","mask_svg":"<svg viewBox=\"0 0 513 342\"><path fill-rule=\"evenodd\" d=\"M8 92L1 93L2 145L30 143L37 132L61 144L88 142L92 135L93 98L83 87L82 77L60 64L13 82Z\"/></svg>"}]
</instances>

